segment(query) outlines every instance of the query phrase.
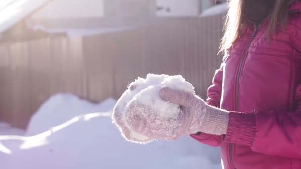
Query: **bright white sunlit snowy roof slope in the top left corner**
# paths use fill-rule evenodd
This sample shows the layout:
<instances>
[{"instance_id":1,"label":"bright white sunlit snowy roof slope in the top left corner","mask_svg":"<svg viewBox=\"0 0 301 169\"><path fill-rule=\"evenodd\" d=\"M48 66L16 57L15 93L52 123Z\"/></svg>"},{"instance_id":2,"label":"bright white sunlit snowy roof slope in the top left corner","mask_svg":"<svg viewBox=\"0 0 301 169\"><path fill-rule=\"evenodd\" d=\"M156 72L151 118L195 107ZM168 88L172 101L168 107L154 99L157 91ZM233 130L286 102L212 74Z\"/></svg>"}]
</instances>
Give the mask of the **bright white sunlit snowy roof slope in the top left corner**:
<instances>
[{"instance_id":1,"label":"bright white sunlit snowy roof slope in the top left corner","mask_svg":"<svg viewBox=\"0 0 301 169\"><path fill-rule=\"evenodd\" d=\"M48 0L1 0L0 32L6 31L47 1Z\"/></svg>"}]
</instances>

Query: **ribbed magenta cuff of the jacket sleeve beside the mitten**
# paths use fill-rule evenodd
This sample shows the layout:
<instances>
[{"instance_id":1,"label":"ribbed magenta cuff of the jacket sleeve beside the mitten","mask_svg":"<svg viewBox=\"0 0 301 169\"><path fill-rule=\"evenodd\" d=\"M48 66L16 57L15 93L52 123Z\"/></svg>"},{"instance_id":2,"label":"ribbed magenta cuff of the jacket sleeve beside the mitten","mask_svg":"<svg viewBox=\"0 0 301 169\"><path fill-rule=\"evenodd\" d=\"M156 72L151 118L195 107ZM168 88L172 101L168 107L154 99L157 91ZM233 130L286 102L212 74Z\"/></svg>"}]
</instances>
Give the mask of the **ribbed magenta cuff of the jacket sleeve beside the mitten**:
<instances>
[{"instance_id":1,"label":"ribbed magenta cuff of the jacket sleeve beside the mitten","mask_svg":"<svg viewBox=\"0 0 301 169\"><path fill-rule=\"evenodd\" d=\"M255 113L229 113L225 142L251 147L256 133Z\"/></svg>"}]
</instances>

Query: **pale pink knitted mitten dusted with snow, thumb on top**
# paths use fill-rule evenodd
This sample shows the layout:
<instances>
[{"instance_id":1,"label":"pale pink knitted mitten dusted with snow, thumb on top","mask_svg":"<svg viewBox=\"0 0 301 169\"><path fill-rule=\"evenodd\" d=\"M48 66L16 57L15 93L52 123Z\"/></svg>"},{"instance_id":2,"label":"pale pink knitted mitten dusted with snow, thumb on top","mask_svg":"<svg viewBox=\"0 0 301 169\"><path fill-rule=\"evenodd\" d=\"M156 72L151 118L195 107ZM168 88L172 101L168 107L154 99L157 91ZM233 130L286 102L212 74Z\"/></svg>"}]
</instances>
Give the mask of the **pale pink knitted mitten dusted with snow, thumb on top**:
<instances>
[{"instance_id":1,"label":"pale pink knitted mitten dusted with snow, thumb on top","mask_svg":"<svg viewBox=\"0 0 301 169\"><path fill-rule=\"evenodd\" d=\"M175 140L199 131L214 135L226 134L228 112L207 105L196 95L168 87L162 88L159 95L164 101L180 106L177 118L160 118L151 107L133 102L128 106L126 119L135 132L151 139L163 140Z\"/></svg>"}]
</instances>

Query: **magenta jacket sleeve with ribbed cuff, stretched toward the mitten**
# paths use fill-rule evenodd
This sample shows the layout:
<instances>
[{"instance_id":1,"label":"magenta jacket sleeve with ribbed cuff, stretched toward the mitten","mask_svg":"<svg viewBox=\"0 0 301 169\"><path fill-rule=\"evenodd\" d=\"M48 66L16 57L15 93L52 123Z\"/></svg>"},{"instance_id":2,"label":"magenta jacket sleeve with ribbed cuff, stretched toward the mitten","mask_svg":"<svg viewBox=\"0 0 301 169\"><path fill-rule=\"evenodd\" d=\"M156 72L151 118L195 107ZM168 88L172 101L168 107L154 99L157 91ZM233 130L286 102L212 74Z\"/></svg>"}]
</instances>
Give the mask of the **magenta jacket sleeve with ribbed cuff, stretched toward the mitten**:
<instances>
[{"instance_id":1,"label":"magenta jacket sleeve with ribbed cuff, stretched toward the mitten","mask_svg":"<svg viewBox=\"0 0 301 169\"><path fill-rule=\"evenodd\" d=\"M301 159L301 111L230 112L225 142L252 151Z\"/></svg>"}]
</instances>

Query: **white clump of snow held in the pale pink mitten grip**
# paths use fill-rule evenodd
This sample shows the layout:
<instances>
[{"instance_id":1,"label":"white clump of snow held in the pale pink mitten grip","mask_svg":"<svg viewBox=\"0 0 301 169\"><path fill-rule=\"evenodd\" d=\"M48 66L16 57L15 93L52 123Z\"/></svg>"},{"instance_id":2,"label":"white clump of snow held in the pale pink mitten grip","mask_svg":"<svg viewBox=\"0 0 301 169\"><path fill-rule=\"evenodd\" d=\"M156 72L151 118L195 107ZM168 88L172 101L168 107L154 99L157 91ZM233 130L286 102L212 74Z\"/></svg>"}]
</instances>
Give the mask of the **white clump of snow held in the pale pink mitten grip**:
<instances>
[{"instance_id":1,"label":"white clump of snow held in the pale pink mitten grip","mask_svg":"<svg viewBox=\"0 0 301 169\"><path fill-rule=\"evenodd\" d=\"M141 133L135 132L128 123L127 116L132 113L129 112L128 106L133 102L146 105L146 107L151 107L156 113L155 116L160 117L163 121L164 119L177 118L180 112L179 105L168 103L159 96L159 90L163 87L170 87L172 89L194 94L194 87L192 84L186 82L181 75L169 76L148 74L146 79L139 77L134 82L130 83L128 89L117 101L112 115L113 122L119 127L126 140L135 143L148 143L153 141L152 138L148 138ZM141 112L135 113L146 113L144 112L144 109L139 110L141 110Z\"/></svg>"}]
</instances>

